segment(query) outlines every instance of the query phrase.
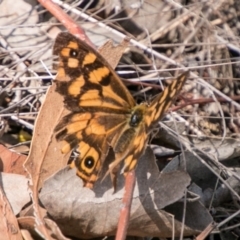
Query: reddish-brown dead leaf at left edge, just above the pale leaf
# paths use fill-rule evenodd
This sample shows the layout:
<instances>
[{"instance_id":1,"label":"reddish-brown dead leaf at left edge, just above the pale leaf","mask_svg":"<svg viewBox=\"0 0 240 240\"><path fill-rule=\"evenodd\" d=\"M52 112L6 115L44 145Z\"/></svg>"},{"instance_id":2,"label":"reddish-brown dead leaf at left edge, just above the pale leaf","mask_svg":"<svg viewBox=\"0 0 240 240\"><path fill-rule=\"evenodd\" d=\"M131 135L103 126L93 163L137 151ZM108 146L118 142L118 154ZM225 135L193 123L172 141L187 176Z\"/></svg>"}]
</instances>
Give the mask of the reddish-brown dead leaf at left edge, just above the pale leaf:
<instances>
[{"instance_id":1,"label":"reddish-brown dead leaf at left edge, just above the pale leaf","mask_svg":"<svg viewBox=\"0 0 240 240\"><path fill-rule=\"evenodd\" d=\"M8 148L0 145L0 160L1 160L1 171L5 173L16 173L26 176L27 173L23 168L23 163L27 156L18 154L9 150Z\"/></svg>"}]
</instances>

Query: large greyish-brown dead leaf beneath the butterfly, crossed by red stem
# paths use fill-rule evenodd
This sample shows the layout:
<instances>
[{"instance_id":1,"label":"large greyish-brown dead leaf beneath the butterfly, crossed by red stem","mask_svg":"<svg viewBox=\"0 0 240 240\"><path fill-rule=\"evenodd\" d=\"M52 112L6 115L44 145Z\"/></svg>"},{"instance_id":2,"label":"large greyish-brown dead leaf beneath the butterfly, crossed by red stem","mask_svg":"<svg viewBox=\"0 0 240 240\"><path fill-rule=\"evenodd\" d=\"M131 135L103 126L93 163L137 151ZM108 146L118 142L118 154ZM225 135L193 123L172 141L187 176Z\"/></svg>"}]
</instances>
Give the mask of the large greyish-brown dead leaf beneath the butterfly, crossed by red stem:
<instances>
[{"instance_id":1,"label":"large greyish-brown dead leaf beneath the butterfly, crossed by red stem","mask_svg":"<svg viewBox=\"0 0 240 240\"><path fill-rule=\"evenodd\" d=\"M139 161L128 234L135 236L170 237L172 214L160 210L184 196L190 178L183 171L160 174L151 150ZM83 188L74 169L64 169L48 179L40 193L40 200L64 234L82 238L113 235L116 232L124 192L124 178L119 177L117 192L113 194L110 179L98 181L93 190ZM185 226L185 234L201 231L211 217L197 203L203 218L196 217L194 225ZM183 211L183 206L180 209ZM173 213L174 214L174 213ZM174 221L179 234L181 219ZM194 228L192 227L194 226Z\"/></svg>"}]
</instances>

